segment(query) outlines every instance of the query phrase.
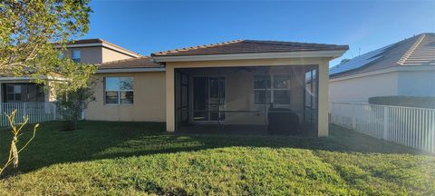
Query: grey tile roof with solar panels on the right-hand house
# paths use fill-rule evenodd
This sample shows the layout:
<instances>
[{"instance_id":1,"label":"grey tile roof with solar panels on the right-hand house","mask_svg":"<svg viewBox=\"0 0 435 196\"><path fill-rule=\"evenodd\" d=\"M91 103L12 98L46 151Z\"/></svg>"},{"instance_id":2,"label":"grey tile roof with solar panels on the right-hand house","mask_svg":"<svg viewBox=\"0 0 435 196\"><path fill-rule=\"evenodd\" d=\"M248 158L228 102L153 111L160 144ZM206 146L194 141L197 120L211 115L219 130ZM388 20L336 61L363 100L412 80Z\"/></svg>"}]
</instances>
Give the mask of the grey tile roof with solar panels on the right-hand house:
<instances>
[{"instance_id":1,"label":"grey tile roof with solar panels on the right-hand house","mask_svg":"<svg viewBox=\"0 0 435 196\"><path fill-rule=\"evenodd\" d=\"M412 36L333 66L331 78L371 72L393 66L435 65L435 34Z\"/></svg>"}]
</instances>

